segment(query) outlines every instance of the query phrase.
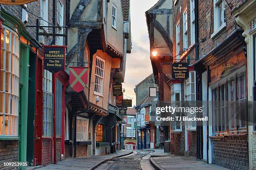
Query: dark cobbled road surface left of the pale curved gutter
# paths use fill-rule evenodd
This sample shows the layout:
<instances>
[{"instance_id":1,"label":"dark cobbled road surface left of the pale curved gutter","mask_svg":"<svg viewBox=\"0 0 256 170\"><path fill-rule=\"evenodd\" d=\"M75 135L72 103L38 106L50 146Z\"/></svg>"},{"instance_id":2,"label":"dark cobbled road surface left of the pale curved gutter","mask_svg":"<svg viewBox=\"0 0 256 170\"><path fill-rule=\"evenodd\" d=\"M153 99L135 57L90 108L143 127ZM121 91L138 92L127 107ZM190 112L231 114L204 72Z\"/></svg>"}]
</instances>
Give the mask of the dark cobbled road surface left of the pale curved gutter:
<instances>
[{"instance_id":1,"label":"dark cobbled road surface left of the pale curved gutter","mask_svg":"<svg viewBox=\"0 0 256 170\"><path fill-rule=\"evenodd\" d=\"M100 165L96 170L142 170L141 159L150 153L152 153L152 151L137 150L131 155L114 158ZM148 164L150 163L148 162Z\"/></svg>"}]
</instances>

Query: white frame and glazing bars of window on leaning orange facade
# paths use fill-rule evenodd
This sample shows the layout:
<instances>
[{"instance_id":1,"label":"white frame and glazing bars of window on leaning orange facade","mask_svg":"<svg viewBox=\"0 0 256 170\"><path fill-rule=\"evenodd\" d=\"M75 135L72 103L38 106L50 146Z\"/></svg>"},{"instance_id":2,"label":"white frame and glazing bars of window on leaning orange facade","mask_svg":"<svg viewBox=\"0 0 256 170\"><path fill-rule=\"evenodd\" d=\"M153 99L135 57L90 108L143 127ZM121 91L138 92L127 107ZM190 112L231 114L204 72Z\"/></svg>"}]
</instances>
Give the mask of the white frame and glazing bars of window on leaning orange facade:
<instances>
[{"instance_id":1,"label":"white frame and glazing bars of window on leaning orange facade","mask_svg":"<svg viewBox=\"0 0 256 170\"><path fill-rule=\"evenodd\" d=\"M99 66L97 66L97 61L101 61L102 63L103 63L103 69L102 68L100 68ZM101 75L98 75L96 72L97 72L97 68L99 69L99 70L102 70L102 76ZM105 76L105 60L104 59L102 59L102 58L100 58L100 57L96 57L96 61L95 61L95 85L94 85L94 94L95 95L98 95L98 96L103 96L103 86L104 86L104 76ZM98 82L97 81L97 78L99 78L100 80L101 80L101 84L98 84L98 83L96 83L96 82ZM97 87L98 86L98 87ZM100 87L99 87L100 86ZM98 91L95 91L95 88L96 88L96 90L98 89L98 88L100 88L100 91L98 92Z\"/></svg>"}]
</instances>

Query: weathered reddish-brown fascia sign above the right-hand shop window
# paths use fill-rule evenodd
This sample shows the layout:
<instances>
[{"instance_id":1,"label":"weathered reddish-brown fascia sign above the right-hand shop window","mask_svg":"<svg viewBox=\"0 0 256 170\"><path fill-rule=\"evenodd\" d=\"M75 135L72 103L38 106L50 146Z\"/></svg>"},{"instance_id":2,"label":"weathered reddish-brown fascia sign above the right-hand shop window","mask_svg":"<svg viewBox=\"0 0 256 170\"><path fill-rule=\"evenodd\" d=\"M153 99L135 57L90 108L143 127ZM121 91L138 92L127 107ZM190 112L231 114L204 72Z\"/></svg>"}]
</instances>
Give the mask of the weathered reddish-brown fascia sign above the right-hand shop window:
<instances>
[{"instance_id":1,"label":"weathered reddish-brown fascia sign above the right-hand shop window","mask_svg":"<svg viewBox=\"0 0 256 170\"><path fill-rule=\"evenodd\" d=\"M230 72L235 71L241 66L245 65L246 57L244 56L244 53L235 53L235 55L234 53L234 51L230 51L230 53L223 58L229 58L230 55L233 55L233 57L226 61L218 60L210 65L210 82L218 81L221 79L221 77L226 76L230 74Z\"/></svg>"}]
</instances>

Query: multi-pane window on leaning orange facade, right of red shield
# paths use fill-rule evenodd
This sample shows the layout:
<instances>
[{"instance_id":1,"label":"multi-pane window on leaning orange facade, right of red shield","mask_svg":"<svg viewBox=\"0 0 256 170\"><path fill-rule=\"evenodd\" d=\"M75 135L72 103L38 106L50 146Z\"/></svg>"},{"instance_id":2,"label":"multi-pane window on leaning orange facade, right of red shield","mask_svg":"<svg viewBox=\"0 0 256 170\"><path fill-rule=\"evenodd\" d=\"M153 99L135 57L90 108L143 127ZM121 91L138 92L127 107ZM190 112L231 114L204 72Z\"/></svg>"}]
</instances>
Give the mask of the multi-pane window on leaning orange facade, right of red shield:
<instances>
[{"instance_id":1,"label":"multi-pane window on leaning orange facade, right of red shield","mask_svg":"<svg viewBox=\"0 0 256 170\"><path fill-rule=\"evenodd\" d=\"M105 60L97 57L96 66L95 66L94 92L95 94L98 94L98 95L103 94L104 69L105 69Z\"/></svg>"}]
</instances>

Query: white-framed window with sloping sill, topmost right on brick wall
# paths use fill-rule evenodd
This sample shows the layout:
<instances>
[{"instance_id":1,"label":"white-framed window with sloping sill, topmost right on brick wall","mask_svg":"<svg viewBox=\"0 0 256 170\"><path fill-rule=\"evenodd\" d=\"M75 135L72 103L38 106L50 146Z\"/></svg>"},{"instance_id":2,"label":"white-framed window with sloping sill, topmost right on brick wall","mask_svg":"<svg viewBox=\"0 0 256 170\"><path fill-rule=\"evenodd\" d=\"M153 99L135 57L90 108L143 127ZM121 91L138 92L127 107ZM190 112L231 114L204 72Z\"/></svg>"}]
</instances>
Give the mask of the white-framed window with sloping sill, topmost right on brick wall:
<instances>
[{"instance_id":1,"label":"white-framed window with sloping sill, topmost right on brick wall","mask_svg":"<svg viewBox=\"0 0 256 170\"><path fill-rule=\"evenodd\" d=\"M213 2L214 32L212 33L211 38L214 38L221 30L223 30L226 27L225 0L213 0Z\"/></svg>"}]
</instances>

